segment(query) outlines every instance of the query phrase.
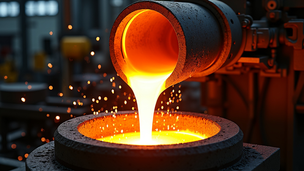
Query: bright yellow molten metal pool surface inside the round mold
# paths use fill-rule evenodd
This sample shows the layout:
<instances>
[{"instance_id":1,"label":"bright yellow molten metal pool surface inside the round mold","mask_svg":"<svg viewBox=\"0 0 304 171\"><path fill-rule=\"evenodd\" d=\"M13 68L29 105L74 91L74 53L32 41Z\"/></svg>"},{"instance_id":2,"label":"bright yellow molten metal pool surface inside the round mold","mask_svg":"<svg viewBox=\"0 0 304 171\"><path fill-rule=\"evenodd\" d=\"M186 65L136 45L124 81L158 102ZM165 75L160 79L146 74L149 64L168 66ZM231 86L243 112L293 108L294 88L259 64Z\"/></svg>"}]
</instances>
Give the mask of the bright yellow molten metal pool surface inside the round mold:
<instances>
[{"instance_id":1,"label":"bright yellow molten metal pool surface inside the round mold","mask_svg":"<svg viewBox=\"0 0 304 171\"><path fill-rule=\"evenodd\" d=\"M123 130L121 130L123 133ZM151 141L141 141L140 132L129 132L98 138L99 141L128 145L171 145L199 141L208 138L206 135L191 131L152 131Z\"/></svg>"}]
</instances>

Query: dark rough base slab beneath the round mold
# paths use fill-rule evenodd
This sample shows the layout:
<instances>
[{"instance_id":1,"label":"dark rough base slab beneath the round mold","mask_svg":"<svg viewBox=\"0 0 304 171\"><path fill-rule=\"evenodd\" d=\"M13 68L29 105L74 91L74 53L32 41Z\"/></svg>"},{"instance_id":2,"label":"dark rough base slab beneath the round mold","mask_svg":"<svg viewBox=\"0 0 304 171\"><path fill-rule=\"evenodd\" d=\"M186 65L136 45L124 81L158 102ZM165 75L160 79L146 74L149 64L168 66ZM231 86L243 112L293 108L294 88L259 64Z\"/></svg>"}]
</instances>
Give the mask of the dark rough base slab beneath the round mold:
<instances>
[{"instance_id":1,"label":"dark rough base slab beneath the round mold","mask_svg":"<svg viewBox=\"0 0 304 171\"><path fill-rule=\"evenodd\" d=\"M54 141L36 148L26 159L26 170L72 170L57 162L54 154ZM222 169L221 171L278 171L279 169L279 148L243 143L242 159L233 166Z\"/></svg>"}]
</instances>

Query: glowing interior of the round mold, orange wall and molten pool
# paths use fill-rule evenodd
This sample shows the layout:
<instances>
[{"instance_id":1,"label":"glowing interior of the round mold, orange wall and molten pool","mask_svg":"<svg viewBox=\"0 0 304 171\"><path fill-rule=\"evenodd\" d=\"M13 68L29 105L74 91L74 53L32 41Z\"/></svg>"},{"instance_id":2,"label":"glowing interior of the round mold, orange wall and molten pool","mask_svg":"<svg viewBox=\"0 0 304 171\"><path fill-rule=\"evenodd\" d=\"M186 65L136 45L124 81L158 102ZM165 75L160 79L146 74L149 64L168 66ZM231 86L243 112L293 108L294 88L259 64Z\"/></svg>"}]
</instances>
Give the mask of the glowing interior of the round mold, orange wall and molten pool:
<instances>
[{"instance_id":1,"label":"glowing interior of the round mold, orange wall and molten pool","mask_svg":"<svg viewBox=\"0 0 304 171\"><path fill-rule=\"evenodd\" d=\"M143 141L140 139L137 116L137 112L134 112L98 117L97 120L81 123L78 131L87 137L117 144L171 145L203 140L220 130L218 124L206 118L197 119L194 116L177 113L155 112L152 141Z\"/></svg>"}]
</instances>

